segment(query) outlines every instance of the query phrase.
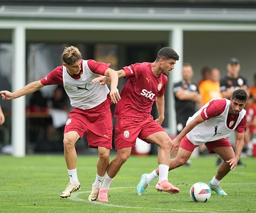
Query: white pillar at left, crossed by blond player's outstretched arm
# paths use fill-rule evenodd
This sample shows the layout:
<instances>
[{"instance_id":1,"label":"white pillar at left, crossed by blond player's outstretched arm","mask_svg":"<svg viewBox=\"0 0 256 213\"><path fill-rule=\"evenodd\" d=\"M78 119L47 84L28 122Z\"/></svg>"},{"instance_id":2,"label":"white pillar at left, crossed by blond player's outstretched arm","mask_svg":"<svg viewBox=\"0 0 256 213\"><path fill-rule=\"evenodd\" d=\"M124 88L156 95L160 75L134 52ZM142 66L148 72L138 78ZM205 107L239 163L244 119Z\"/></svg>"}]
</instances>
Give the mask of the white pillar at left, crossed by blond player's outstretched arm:
<instances>
[{"instance_id":1,"label":"white pillar at left, crossed by blond player's outstretched arm","mask_svg":"<svg viewBox=\"0 0 256 213\"><path fill-rule=\"evenodd\" d=\"M26 84L26 29L17 26L12 32L13 70L12 91L21 89ZM12 100L12 155L24 157L26 154L25 141L25 96Z\"/></svg>"}]
</instances>

